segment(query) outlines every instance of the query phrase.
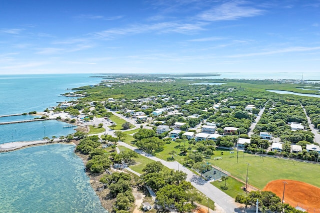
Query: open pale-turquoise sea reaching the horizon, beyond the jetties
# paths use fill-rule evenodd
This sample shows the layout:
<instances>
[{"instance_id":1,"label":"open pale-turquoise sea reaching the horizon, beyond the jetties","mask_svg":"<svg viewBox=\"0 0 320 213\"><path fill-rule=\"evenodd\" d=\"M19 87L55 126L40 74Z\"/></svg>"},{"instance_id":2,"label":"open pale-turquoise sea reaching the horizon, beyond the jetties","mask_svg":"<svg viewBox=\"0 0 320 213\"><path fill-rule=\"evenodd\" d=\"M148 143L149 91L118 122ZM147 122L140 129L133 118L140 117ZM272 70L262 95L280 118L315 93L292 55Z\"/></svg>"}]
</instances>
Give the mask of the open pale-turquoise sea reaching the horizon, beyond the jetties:
<instances>
[{"instance_id":1,"label":"open pale-turquoise sea reaching the horizon, beyond the jetties","mask_svg":"<svg viewBox=\"0 0 320 213\"><path fill-rule=\"evenodd\" d=\"M90 74L0 75L0 115L43 111L57 101L72 100L60 96L67 88L94 85L101 78Z\"/></svg>"}]
</instances>

